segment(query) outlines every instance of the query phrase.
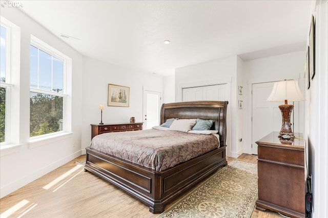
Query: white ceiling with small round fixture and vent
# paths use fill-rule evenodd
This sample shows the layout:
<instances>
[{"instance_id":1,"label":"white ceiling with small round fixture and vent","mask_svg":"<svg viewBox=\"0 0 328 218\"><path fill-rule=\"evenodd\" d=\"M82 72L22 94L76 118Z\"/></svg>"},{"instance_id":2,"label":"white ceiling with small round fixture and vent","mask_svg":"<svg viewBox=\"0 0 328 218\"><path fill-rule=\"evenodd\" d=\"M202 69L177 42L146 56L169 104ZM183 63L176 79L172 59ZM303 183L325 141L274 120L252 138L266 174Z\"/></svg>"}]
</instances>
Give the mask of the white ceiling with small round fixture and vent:
<instances>
[{"instance_id":1,"label":"white ceiling with small round fixture and vent","mask_svg":"<svg viewBox=\"0 0 328 218\"><path fill-rule=\"evenodd\" d=\"M24 13L84 56L164 76L178 67L233 55L251 60L304 51L312 4L303 0L21 2Z\"/></svg>"}]
</instances>

